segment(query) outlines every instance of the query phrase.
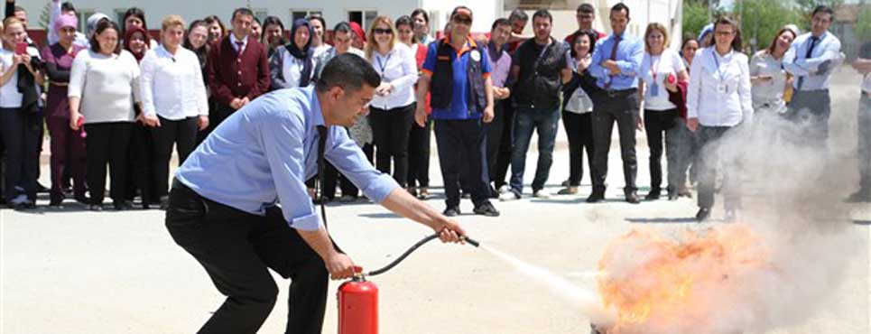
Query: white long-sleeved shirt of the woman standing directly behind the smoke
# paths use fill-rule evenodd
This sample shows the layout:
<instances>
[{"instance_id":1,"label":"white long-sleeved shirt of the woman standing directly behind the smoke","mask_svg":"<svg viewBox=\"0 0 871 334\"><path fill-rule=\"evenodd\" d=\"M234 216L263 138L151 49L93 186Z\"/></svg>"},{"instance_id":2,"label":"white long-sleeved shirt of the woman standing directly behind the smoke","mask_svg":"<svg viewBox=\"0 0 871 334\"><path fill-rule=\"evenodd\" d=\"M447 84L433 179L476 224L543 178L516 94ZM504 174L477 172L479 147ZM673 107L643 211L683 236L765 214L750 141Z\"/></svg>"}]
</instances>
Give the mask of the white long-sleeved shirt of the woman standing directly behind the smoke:
<instances>
[{"instance_id":1,"label":"white long-sleeved shirt of the woman standing directly behind the smoke","mask_svg":"<svg viewBox=\"0 0 871 334\"><path fill-rule=\"evenodd\" d=\"M700 125L735 126L753 119L750 70L747 56L729 51L715 55L714 47L703 49L690 67L687 118Z\"/></svg>"}]
</instances>

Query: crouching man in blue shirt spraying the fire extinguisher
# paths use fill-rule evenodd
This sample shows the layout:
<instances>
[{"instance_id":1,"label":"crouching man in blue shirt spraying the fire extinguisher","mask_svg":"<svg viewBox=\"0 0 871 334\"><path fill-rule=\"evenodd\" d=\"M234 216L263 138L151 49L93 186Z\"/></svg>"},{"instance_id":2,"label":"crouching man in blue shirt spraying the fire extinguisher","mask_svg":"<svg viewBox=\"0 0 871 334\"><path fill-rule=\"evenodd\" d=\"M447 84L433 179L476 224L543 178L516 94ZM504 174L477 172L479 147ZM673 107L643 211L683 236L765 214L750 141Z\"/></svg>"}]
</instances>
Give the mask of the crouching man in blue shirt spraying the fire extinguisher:
<instances>
[{"instance_id":1,"label":"crouching man in blue shirt spraying the fire extinguisher","mask_svg":"<svg viewBox=\"0 0 871 334\"><path fill-rule=\"evenodd\" d=\"M348 138L343 126L366 115L380 81L366 60L339 55L316 87L274 91L229 116L181 166L166 227L227 296L199 333L255 333L278 294L268 269L292 280L287 332L321 333L328 273L345 279L354 266L330 240L304 183L318 172L321 137L323 157L370 199L444 242L465 234L376 171Z\"/></svg>"}]
</instances>

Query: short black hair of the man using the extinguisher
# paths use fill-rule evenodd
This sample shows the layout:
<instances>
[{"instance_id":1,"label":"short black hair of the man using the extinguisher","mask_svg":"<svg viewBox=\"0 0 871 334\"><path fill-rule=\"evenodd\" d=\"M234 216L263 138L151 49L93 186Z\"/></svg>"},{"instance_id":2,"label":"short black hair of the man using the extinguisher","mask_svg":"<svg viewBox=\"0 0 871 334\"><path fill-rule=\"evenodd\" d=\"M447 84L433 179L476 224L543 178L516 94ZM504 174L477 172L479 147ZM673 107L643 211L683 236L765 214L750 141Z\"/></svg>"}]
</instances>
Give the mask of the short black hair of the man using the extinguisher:
<instances>
[{"instance_id":1,"label":"short black hair of the man using the extinguisher","mask_svg":"<svg viewBox=\"0 0 871 334\"><path fill-rule=\"evenodd\" d=\"M357 92L363 85L375 88L381 85L381 75L369 61L353 53L342 53L327 62L320 72L317 89L323 93L333 87L344 88L347 93Z\"/></svg>"}]
</instances>

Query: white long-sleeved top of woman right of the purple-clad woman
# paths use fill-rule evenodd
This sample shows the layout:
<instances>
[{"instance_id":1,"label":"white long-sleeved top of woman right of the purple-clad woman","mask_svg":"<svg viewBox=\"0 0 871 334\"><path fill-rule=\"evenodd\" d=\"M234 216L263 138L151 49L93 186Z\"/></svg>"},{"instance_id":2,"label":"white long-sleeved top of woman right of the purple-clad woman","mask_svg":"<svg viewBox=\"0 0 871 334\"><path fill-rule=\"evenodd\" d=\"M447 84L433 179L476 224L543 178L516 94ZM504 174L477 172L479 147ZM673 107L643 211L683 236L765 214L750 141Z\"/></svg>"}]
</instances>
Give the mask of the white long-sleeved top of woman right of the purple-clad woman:
<instances>
[{"instance_id":1,"label":"white long-sleeved top of woman right of the purple-clad woman","mask_svg":"<svg viewBox=\"0 0 871 334\"><path fill-rule=\"evenodd\" d=\"M133 122L141 101L139 64L130 52L110 56L91 50L76 55L69 71L68 97L81 97L85 123Z\"/></svg>"}]
</instances>

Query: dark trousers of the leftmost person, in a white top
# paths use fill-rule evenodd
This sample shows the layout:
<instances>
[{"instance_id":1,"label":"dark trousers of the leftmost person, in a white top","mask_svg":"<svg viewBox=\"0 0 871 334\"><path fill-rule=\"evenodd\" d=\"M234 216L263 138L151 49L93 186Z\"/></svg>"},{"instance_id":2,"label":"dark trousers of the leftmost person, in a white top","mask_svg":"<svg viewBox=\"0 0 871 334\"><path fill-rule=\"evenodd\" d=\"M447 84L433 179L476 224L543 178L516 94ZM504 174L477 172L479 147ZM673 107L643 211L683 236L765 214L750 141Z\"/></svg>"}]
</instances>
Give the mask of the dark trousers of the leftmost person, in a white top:
<instances>
[{"instance_id":1,"label":"dark trousers of the leftmost person, in a white top","mask_svg":"<svg viewBox=\"0 0 871 334\"><path fill-rule=\"evenodd\" d=\"M36 180L39 177L39 143L42 118L36 113L21 108L0 108L0 136L5 145L4 197L15 199L23 188L23 194L36 200Z\"/></svg>"}]
</instances>

